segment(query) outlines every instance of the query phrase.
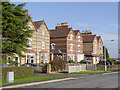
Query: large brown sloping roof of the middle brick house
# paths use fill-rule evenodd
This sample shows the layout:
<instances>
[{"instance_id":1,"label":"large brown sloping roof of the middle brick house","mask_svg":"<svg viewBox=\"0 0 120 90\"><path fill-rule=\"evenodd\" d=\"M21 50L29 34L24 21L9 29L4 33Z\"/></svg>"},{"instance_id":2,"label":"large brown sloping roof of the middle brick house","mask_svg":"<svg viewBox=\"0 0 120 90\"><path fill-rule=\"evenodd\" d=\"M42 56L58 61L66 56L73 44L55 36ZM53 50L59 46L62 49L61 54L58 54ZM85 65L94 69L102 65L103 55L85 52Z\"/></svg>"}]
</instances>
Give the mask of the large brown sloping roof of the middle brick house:
<instances>
[{"instance_id":1,"label":"large brown sloping roof of the middle brick house","mask_svg":"<svg viewBox=\"0 0 120 90\"><path fill-rule=\"evenodd\" d=\"M50 38L67 37L70 30L71 30L71 28L50 30Z\"/></svg>"}]
</instances>

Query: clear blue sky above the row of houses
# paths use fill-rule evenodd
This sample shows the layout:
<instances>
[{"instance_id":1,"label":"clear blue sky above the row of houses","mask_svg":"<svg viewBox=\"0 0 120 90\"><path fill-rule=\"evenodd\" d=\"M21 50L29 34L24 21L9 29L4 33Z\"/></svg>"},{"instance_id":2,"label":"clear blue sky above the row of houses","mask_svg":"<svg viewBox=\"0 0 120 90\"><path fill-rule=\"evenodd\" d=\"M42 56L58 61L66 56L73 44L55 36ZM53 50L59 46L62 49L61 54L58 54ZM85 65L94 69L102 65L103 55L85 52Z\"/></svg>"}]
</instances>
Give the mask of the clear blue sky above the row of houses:
<instances>
[{"instance_id":1,"label":"clear blue sky above the row of houses","mask_svg":"<svg viewBox=\"0 0 120 90\"><path fill-rule=\"evenodd\" d=\"M33 21L44 19L49 29L68 22L73 30L91 30L102 36L110 57L118 57L117 2L26 2L25 9Z\"/></svg>"}]
</instances>

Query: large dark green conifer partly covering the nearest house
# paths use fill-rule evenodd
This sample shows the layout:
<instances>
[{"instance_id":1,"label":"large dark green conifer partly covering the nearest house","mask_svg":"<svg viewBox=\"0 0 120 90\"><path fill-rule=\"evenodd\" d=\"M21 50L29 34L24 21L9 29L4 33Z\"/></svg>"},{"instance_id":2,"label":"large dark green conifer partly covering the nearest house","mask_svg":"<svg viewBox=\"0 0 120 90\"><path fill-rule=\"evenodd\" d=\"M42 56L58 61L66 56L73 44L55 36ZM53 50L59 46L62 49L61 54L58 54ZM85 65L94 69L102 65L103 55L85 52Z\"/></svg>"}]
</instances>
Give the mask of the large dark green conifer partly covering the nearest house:
<instances>
[{"instance_id":1,"label":"large dark green conifer partly covering the nearest house","mask_svg":"<svg viewBox=\"0 0 120 90\"><path fill-rule=\"evenodd\" d=\"M31 18L24 6L25 3L2 2L2 54L23 56L22 51L29 47L27 42L33 30L28 29Z\"/></svg>"}]
</instances>

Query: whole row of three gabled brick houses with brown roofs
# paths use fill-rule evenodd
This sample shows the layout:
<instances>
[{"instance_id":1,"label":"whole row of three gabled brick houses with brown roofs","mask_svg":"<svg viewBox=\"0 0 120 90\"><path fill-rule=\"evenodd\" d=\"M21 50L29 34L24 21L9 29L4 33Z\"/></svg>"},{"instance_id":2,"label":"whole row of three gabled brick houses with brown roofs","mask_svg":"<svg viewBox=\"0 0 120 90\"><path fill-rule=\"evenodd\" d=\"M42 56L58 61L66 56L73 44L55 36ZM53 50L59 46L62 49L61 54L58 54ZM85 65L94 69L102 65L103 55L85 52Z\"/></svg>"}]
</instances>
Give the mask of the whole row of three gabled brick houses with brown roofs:
<instances>
[{"instance_id":1,"label":"whole row of three gabled brick houses with brown roofs","mask_svg":"<svg viewBox=\"0 0 120 90\"><path fill-rule=\"evenodd\" d=\"M73 30L68 23L60 23L55 29L49 30L45 21L32 20L28 23L29 30L34 30L28 39L26 57L15 58L8 56L10 60L17 61L20 65L24 63L44 64L49 63L54 57L61 60L73 60L76 63L87 59L92 64L103 60L103 42L101 36L92 35L91 31Z\"/></svg>"}]
</instances>

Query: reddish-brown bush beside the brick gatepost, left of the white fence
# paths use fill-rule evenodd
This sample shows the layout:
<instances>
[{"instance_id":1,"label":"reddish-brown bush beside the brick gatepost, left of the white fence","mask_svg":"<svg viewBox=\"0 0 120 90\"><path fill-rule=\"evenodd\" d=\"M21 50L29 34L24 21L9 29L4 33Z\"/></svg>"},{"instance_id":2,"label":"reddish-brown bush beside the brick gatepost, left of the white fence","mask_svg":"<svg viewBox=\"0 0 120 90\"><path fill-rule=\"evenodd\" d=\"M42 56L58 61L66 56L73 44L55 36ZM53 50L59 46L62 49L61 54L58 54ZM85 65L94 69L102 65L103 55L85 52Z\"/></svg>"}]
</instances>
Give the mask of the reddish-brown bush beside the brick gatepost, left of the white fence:
<instances>
[{"instance_id":1,"label":"reddish-brown bush beside the brick gatepost, left of the white fence","mask_svg":"<svg viewBox=\"0 0 120 90\"><path fill-rule=\"evenodd\" d=\"M60 60L59 58L55 57L53 61L49 62L51 64L52 71L63 71L65 69L65 60Z\"/></svg>"}]
</instances>

